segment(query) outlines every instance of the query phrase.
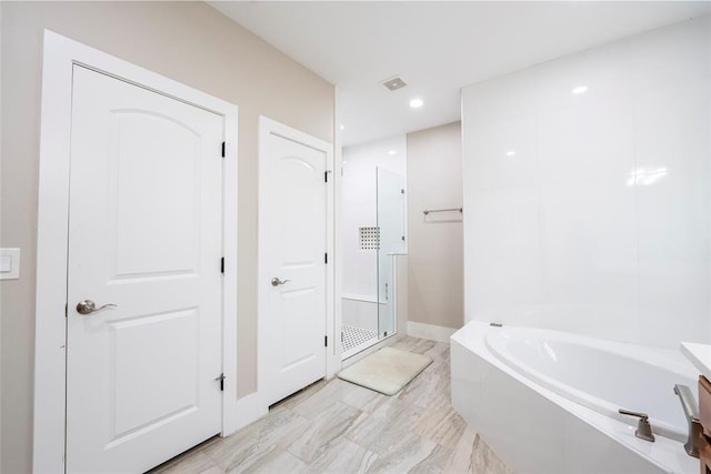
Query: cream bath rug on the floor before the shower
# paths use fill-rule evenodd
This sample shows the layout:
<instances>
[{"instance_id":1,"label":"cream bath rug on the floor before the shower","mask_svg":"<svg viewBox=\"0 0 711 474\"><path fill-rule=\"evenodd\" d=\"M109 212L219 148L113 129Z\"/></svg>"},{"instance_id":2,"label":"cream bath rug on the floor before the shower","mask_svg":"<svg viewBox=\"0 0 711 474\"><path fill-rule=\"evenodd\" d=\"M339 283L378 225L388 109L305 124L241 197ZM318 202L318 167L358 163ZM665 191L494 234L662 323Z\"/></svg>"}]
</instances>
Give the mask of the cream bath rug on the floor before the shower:
<instances>
[{"instance_id":1,"label":"cream bath rug on the floor before the shower","mask_svg":"<svg viewBox=\"0 0 711 474\"><path fill-rule=\"evenodd\" d=\"M338 377L385 395L394 395L431 363L432 359L427 355L383 347L343 369Z\"/></svg>"}]
</instances>

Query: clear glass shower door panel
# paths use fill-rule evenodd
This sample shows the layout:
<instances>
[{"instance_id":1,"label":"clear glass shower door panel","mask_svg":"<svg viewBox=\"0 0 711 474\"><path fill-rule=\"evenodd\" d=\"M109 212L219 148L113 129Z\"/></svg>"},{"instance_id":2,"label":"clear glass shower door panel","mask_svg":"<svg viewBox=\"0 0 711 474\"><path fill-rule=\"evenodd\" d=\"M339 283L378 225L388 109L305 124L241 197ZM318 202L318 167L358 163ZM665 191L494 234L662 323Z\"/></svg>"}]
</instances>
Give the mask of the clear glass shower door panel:
<instances>
[{"instance_id":1,"label":"clear glass shower door panel","mask_svg":"<svg viewBox=\"0 0 711 474\"><path fill-rule=\"evenodd\" d=\"M378 168L377 220L380 231L378 248L378 337L395 332L395 254L404 253L404 180L399 174Z\"/></svg>"}]
</instances>

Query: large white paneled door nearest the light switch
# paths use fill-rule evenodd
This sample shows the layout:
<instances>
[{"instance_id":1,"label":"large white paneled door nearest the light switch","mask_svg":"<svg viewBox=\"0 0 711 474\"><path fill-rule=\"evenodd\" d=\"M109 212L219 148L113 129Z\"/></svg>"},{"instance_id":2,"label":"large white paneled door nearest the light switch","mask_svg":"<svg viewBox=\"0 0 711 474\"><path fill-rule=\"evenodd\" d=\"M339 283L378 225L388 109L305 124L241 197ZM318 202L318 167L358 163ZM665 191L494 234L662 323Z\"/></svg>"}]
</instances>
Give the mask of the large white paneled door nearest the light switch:
<instances>
[{"instance_id":1,"label":"large white paneled door nearest the light switch","mask_svg":"<svg viewBox=\"0 0 711 474\"><path fill-rule=\"evenodd\" d=\"M221 430L222 140L216 113L74 67L67 472Z\"/></svg>"}]
</instances>

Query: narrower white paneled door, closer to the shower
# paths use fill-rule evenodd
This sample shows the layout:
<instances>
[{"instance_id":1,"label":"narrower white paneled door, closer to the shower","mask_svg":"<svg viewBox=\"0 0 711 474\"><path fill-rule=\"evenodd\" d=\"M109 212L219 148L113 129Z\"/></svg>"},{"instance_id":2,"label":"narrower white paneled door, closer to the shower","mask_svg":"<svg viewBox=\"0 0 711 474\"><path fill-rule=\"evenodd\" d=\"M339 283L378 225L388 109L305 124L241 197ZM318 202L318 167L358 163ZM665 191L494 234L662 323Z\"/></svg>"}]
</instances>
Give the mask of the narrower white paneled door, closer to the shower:
<instances>
[{"instance_id":1,"label":"narrower white paneled door, closer to the shower","mask_svg":"<svg viewBox=\"0 0 711 474\"><path fill-rule=\"evenodd\" d=\"M262 137L260 392L272 404L326 374L327 153Z\"/></svg>"}]
</instances>

